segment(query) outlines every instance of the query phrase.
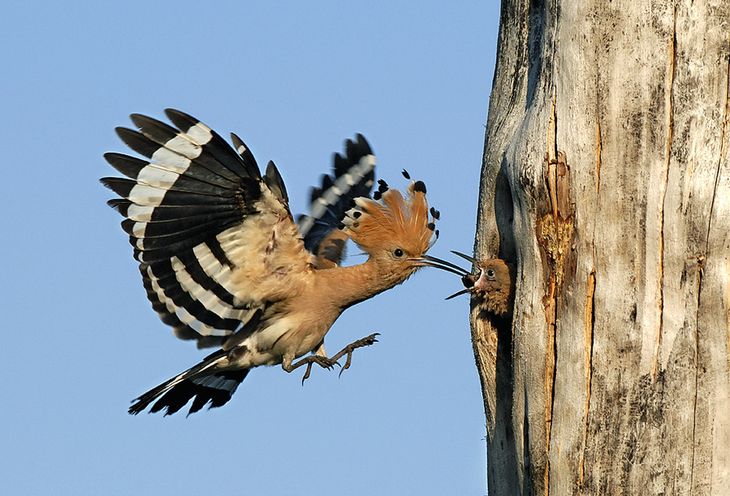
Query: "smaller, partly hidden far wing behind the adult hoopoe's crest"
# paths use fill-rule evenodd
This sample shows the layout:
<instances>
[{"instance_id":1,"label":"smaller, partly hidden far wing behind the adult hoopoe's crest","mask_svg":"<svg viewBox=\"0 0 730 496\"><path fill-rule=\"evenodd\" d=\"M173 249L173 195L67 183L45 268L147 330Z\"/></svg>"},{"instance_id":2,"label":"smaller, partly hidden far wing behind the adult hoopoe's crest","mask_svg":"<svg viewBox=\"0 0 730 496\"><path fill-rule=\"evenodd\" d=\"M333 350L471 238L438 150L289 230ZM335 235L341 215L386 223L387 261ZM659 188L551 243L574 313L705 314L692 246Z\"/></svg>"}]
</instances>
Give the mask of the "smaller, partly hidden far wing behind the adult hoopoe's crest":
<instances>
[{"instance_id":1,"label":"smaller, partly hidden far wing behind the adult hoopoe's crest","mask_svg":"<svg viewBox=\"0 0 730 496\"><path fill-rule=\"evenodd\" d=\"M332 174L323 175L321 185L312 188L310 214L299 218L304 246L326 268L344 258L347 235L340 231L345 212L355 198L370 196L375 178L375 155L362 134L345 141L345 155L336 153Z\"/></svg>"}]
</instances>

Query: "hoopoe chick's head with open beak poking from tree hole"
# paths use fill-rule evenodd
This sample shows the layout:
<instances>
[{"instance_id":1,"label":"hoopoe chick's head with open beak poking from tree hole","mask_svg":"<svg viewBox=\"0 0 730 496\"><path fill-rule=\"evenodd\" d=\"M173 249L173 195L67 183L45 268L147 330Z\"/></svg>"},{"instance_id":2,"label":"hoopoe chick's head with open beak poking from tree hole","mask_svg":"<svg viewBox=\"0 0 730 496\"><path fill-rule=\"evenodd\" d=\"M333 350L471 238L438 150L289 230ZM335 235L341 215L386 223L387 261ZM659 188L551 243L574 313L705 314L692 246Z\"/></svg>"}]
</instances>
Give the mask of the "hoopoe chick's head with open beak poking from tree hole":
<instances>
[{"instance_id":1,"label":"hoopoe chick's head with open beak poking from tree hole","mask_svg":"<svg viewBox=\"0 0 730 496\"><path fill-rule=\"evenodd\" d=\"M477 274L463 271L461 281L465 289L454 293L447 300L471 293L477 305L495 315L504 316L512 311L514 302L514 267L500 258L476 260L473 257L452 251L474 264Z\"/></svg>"}]
</instances>

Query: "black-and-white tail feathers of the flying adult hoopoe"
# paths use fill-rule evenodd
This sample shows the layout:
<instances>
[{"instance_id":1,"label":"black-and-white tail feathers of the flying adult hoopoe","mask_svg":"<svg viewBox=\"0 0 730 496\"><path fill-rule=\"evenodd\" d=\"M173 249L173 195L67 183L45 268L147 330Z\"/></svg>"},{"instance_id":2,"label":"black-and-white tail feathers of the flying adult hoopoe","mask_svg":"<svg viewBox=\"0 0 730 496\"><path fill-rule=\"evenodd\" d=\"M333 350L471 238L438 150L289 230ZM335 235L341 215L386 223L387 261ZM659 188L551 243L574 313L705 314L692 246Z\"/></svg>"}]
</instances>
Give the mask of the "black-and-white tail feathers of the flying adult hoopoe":
<instances>
[{"instance_id":1,"label":"black-and-white tail feathers of the flying adult hoopoe","mask_svg":"<svg viewBox=\"0 0 730 496\"><path fill-rule=\"evenodd\" d=\"M218 360L225 352L216 352L199 364L150 389L129 407L129 413L137 415L144 411L152 402L150 413L164 409L165 415L184 407L191 399L188 415L202 409L210 403L209 408L225 405L233 396L238 385L248 375L249 369L214 371Z\"/></svg>"}]
</instances>

